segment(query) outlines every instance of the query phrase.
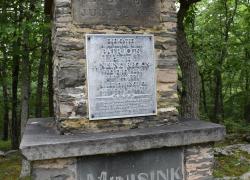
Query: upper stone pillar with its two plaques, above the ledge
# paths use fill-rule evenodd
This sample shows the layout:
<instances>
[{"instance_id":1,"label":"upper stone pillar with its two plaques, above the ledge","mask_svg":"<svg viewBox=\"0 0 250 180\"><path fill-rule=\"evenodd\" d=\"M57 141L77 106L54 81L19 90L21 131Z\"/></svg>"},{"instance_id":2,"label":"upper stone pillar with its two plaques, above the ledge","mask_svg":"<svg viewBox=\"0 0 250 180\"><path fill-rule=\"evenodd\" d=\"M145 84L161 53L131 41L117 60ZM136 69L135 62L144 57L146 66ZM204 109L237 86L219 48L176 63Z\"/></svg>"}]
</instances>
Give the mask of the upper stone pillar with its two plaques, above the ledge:
<instances>
[{"instance_id":1,"label":"upper stone pillar with its two plaques, above the ledge","mask_svg":"<svg viewBox=\"0 0 250 180\"><path fill-rule=\"evenodd\" d=\"M62 134L178 122L174 3L55 1L54 105Z\"/></svg>"}]
</instances>

